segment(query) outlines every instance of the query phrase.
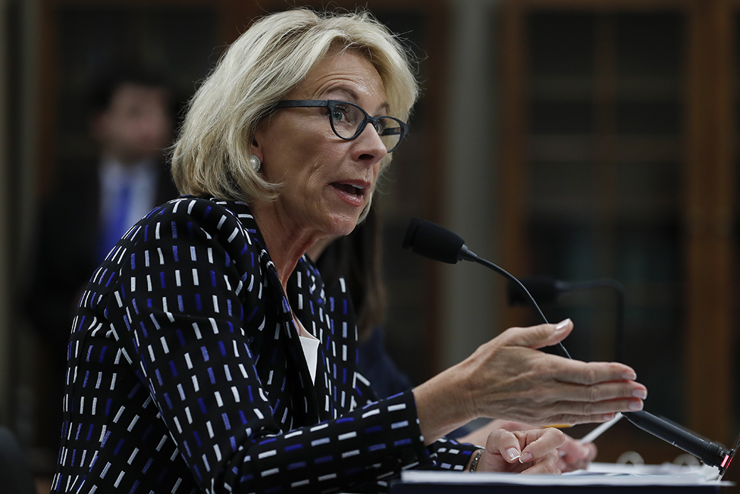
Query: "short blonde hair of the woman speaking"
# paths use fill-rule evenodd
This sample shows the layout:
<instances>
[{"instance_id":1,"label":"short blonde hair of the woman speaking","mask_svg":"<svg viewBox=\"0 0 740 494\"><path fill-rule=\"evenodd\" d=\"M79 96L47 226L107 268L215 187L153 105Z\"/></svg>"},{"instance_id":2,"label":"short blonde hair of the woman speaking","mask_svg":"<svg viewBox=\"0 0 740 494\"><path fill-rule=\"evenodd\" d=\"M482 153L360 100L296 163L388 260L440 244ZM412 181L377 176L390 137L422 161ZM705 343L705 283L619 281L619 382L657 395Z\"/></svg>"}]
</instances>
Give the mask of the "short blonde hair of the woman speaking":
<instances>
[{"instance_id":1,"label":"short blonde hair of the woman speaking","mask_svg":"<svg viewBox=\"0 0 740 494\"><path fill-rule=\"evenodd\" d=\"M284 99L330 50L357 50L380 74L390 116L406 121L418 96L411 57L369 13L288 10L255 22L223 54L189 104L172 153L182 194L271 200L272 184L249 164L250 144ZM381 171L391 156L381 161Z\"/></svg>"}]
</instances>

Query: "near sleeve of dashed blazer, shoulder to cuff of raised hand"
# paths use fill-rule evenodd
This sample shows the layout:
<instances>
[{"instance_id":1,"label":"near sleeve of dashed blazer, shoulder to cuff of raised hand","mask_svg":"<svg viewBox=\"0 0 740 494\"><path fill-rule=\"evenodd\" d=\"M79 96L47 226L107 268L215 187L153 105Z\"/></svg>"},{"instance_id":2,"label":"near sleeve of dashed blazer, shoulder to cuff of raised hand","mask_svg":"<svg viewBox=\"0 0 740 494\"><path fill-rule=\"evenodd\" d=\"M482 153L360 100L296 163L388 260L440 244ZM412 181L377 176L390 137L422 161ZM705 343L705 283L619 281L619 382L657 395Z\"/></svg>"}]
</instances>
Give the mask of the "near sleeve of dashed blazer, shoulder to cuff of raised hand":
<instances>
[{"instance_id":1,"label":"near sleeve of dashed blazer, shoulder to cuff of raised hand","mask_svg":"<svg viewBox=\"0 0 740 494\"><path fill-rule=\"evenodd\" d=\"M275 331L259 250L224 208L174 204L127 253L107 318L201 490L329 492L431 464L411 391L281 429L246 328Z\"/></svg>"}]
</instances>

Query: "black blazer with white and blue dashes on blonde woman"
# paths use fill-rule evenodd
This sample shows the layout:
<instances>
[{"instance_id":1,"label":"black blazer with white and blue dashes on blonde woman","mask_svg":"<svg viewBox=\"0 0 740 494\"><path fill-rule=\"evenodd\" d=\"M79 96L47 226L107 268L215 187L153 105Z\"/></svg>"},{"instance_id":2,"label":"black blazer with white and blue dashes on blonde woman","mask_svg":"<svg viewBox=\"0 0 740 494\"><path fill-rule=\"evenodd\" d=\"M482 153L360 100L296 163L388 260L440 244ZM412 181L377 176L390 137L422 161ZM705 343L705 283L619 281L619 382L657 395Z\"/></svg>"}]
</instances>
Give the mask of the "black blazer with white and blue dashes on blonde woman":
<instances>
[{"instance_id":1,"label":"black blazer with white and blue dashes on blonde woman","mask_svg":"<svg viewBox=\"0 0 740 494\"><path fill-rule=\"evenodd\" d=\"M152 210L81 298L53 492L320 493L462 470L474 447L424 447L411 391L375 401L338 287L324 293L306 258L289 281L320 340L313 384L249 207L186 196Z\"/></svg>"}]
</instances>

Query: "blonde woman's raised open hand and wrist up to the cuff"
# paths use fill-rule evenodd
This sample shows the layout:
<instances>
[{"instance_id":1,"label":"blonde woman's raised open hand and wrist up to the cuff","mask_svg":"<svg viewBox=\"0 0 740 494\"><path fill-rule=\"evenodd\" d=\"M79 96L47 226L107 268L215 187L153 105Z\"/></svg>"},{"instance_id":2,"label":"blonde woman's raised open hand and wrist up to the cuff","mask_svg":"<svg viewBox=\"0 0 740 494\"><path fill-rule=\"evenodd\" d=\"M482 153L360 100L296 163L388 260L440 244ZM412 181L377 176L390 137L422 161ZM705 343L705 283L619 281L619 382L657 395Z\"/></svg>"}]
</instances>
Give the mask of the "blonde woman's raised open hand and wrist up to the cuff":
<instances>
[{"instance_id":1,"label":"blonde woman's raised open hand and wrist up to the cuff","mask_svg":"<svg viewBox=\"0 0 740 494\"><path fill-rule=\"evenodd\" d=\"M414 388L425 442L479 417L582 424L642 410L647 389L625 364L586 363L537 350L562 341L572 329L570 319L510 328Z\"/></svg>"}]
</instances>

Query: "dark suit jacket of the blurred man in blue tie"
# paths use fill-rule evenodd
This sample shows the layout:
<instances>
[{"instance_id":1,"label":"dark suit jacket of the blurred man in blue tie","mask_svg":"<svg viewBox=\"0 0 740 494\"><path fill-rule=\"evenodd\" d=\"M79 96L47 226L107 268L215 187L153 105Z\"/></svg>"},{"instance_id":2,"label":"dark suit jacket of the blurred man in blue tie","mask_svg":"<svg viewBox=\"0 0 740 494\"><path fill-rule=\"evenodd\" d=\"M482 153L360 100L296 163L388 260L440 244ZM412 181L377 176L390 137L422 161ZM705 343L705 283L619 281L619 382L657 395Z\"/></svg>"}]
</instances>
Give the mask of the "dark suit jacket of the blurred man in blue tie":
<instances>
[{"instance_id":1,"label":"dark suit jacket of the blurred man in blue tie","mask_svg":"<svg viewBox=\"0 0 740 494\"><path fill-rule=\"evenodd\" d=\"M58 447L66 350L75 307L90 273L100 264L98 167L96 160L60 164L56 185L38 210L32 276L21 294L27 319L44 345L40 355L48 356L39 366L44 379L36 390L35 427L37 445L52 452ZM164 164L159 171L155 204L178 196Z\"/></svg>"}]
</instances>

